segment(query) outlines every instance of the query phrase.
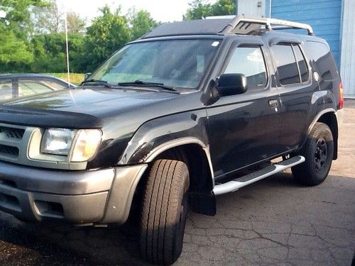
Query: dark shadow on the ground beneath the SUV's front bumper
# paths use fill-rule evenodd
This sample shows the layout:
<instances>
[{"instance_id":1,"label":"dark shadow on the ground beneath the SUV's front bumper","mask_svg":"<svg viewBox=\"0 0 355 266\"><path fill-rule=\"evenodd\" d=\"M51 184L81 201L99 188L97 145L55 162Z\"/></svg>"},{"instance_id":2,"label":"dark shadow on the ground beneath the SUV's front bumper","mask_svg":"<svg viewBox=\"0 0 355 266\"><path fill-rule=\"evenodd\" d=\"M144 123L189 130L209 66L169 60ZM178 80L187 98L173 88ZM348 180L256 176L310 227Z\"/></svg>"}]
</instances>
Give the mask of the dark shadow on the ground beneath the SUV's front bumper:
<instances>
[{"instance_id":1,"label":"dark shadow on the ground beneath the SUV's front bumper","mask_svg":"<svg viewBox=\"0 0 355 266\"><path fill-rule=\"evenodd\" d=\"M0 227L0 265L145 265L131 223L93 228L23 223L1 214Z\"/></svg>"}]
</instances>

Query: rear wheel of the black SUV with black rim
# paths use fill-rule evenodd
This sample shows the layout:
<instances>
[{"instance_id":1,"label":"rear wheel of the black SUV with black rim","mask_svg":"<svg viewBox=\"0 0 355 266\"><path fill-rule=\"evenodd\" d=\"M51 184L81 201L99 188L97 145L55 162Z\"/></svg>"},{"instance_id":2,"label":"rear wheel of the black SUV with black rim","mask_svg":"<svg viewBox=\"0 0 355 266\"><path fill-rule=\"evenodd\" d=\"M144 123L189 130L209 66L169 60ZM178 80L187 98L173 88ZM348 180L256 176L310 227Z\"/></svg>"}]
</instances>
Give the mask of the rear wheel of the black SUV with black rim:
<instances>
[{"instance_id":1,"label":"rear wheel of the black SUV with black rim","mask_svg":"<svg viewBox=\"0 0 355 266\"><path fill-rule=\"evenodd\" d=\"M305 157L305 162L292 167L293 177L307 186L322 183L332 166L333 151L333 135L329 126L315 123L300 153Z\"/></svg>"}]
</instances>

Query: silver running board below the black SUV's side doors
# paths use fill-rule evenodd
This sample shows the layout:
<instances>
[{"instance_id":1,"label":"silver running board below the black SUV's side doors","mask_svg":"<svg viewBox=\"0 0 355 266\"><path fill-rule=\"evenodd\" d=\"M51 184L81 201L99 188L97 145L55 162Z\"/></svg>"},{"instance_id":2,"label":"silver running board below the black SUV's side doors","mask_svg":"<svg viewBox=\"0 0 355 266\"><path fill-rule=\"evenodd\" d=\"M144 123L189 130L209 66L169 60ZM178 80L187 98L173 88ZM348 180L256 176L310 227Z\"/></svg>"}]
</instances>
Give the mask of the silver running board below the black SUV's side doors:
<instances>
[{"instance_id":1,"label":"silver running board below the black SUV's side doors","mask_svg":"<svg viewBox=\"0 0 355 266\"><path fill-rule=\"evenodd\" d=\"M235 192L241 187L246 187L253 182L259 181L266 177L270 177L273 174L282 172L290 167L299 165L300 163L305 162L305 157L295 156L288 160L283 160L282 162L277 162L273 165L269 165L261 170L252 172L251 174L246 174L244 177L239 177L224 184L217 184L214 186L213 192L214 195L222 195L229 192Z\"/></svg>"}]
</instances>

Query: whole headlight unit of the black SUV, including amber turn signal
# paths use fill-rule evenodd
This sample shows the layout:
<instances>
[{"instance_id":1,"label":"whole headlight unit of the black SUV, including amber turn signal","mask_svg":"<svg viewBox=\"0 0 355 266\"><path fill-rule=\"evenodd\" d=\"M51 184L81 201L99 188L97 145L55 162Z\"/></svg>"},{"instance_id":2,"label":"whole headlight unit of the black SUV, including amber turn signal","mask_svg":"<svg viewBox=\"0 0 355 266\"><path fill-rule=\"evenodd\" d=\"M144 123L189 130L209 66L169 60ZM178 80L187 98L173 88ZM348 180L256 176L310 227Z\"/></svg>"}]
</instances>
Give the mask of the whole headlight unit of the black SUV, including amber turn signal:
<instances>
[{"instance_id":1,"label":"whole headlight unit of the black SUV, including amber turn signal","mask_svg":"<svg viewBox=\"0 0 355 266\"><path fill-rule=\"evenodd\" d=\"M66 155L70 162L84 162L95 155L101 138L99 129L49 128L43 134L40 152Z\"/></svg>"}]
</instances>

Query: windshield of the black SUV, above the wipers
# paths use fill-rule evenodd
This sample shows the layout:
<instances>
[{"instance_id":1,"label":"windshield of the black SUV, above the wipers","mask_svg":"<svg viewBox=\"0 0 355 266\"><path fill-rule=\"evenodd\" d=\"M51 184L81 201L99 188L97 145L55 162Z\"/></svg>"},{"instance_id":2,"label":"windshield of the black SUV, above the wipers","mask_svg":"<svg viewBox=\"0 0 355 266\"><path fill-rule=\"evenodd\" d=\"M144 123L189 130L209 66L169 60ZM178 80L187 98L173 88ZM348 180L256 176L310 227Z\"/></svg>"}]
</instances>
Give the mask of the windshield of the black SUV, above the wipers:
<instances>
[{"instance_id":1,"label":"windshield of the black SUV, above the wipers","mask_svg":"<svg viewBox=\"0 0 355 266\"><path fill-rule=\"evenodd\" d=\"M141 81L195 89L218 45L218 40L132 43L114 53L89 79L114 85Z\"/></svg>"}]
</instances>

